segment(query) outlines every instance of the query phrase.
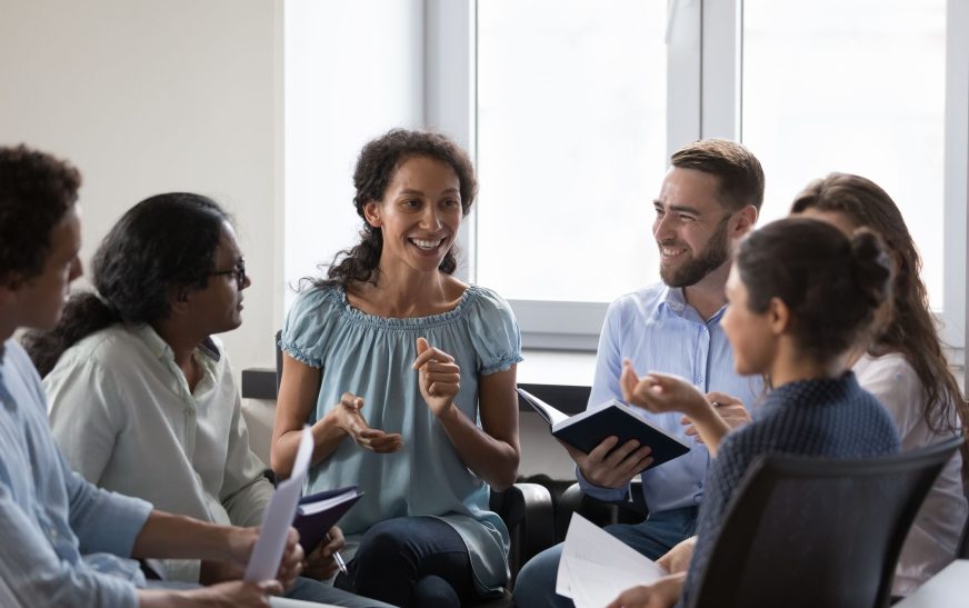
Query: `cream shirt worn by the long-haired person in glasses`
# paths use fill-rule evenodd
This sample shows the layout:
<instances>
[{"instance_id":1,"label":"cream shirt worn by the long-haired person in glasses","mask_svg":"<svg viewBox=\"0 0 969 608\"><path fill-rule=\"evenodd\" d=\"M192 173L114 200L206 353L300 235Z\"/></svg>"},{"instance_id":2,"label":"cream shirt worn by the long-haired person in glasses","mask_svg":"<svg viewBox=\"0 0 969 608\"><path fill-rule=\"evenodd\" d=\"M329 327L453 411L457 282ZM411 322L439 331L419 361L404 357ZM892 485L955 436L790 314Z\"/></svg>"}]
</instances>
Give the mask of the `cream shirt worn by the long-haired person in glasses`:
<instances>
[{"instance_id":1,"label":"cream shirt worn by the long-haired person in glasses","mask_svg":"<svg viewBox=\"0 0 969 608\"><path fill-rule=\"evenodd\" d=\"M229 362L214 340L194 358L202 378L191 391L150 326L84 338L43 380L54 440L97 486L206 521L258 526L273 490L249 449ZM199 561L168 560L166 570L197 581Z\"/></svg>"}]
</instances>

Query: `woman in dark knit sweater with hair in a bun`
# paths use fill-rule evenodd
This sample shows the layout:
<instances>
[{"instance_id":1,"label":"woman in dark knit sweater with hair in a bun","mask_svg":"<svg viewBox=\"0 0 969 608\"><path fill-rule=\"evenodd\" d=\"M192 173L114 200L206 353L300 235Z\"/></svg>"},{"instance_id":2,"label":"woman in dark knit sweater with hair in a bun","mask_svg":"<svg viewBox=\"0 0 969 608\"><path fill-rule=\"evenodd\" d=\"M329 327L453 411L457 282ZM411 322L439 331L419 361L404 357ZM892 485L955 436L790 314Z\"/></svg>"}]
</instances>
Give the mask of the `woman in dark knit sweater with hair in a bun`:
<instances>
[{"instance_id":1,"label":"woman in dark knit sweater with hair in a bun","mask_svg":"<svg viewBox=\"0 0 969 608\"><path fill-rule=\"evenodd\" d=\"M891 418L847 367L847 351L889 299L890 279L891 263L870 231L849 240L820 221L786 219L750 235L727 281L730 306L721 322L737 371L765 375L771 390L753 421L729 436L716 407L692 385L659 373L639 378L627 363L626 399L651 411L682 411L716 459L689 568L689 546L675 548L660 559L675 574L625 591L610 608L687 604L733 490L757 456L861 458L899 450Z\"/></svg>"}]
</instances>

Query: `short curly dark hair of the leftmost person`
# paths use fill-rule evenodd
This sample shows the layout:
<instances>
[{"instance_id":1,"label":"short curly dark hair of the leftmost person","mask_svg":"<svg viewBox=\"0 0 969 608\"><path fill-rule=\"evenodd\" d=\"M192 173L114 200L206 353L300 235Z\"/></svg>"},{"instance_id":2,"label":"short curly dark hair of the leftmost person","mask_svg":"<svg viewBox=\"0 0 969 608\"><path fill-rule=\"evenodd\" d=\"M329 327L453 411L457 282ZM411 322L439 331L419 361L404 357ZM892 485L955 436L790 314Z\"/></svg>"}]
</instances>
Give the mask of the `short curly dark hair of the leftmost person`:
<instances>
[{"instance_id":1,"label":"short curly dark hair of the leftmost person","mask_svg":"<svg viewBox=\"0 0 969 608\"><path fill-rule=\"evenodd\" d=\"M43 271L50 233L78 201L81 175L66 160L27 146L0 147L0 280Z\"/></svg>"}]
</instances>

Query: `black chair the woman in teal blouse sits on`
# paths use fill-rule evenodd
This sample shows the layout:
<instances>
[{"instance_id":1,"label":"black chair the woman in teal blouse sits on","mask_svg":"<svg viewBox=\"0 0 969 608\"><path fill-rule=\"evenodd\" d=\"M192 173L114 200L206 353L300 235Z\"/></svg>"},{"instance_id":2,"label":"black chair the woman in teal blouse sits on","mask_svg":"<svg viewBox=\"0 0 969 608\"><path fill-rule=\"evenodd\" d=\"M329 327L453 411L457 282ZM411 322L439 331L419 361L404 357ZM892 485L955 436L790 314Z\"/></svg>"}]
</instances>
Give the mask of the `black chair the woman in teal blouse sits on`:
<instances>
[{"instance_id":1,"label":"black chair the woman in teal blouse sits on","mask_svg":"<svg viewBox=\"0 0 969 608\"><path fill-rule=\"evenodd\" d=\"M279 382L282 379L282 351L279 349L281 336L282 331L276 332L277 389L279 389ZM508 589L511 589L521 567L537 554L555 544L555 512L551 494L546 487L538 484L519 482L503 492L492 490L489 506L505 521L511 538L511 548L508 552L508 567L511 574ZM474 606L505 608L513 606L513 601L511 594L506 591L503 597L482 599Z\"/></svg>"}]
</instances>

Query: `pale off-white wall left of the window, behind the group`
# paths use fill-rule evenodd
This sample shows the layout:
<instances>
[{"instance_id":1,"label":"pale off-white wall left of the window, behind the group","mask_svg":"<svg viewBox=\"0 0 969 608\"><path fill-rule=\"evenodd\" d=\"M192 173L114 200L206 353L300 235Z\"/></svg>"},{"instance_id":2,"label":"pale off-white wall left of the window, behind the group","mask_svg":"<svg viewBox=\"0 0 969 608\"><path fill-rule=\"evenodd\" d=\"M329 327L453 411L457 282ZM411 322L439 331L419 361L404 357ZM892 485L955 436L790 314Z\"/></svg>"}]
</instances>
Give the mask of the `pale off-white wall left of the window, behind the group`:
<instances>
[{"instance_id":1,"label":"pale off-white wall left of the window, behind the group","mask_svg":"<svg viewBox=\"0 0 969 608\"><path fill-rule=\"evenodd\" d=\"M423 10L422 0L0 0L0 144L81 170L86 263L148 196L221 202L253 281L242 327L222 338L237 375L271 368L290 286L356 240L362 144L442 120L423 110ZM284 22L300 61L283 61ZM273 406L243 403L267 459ZM522 426L522 472L569 477L547 430L528 413Z\"/></svg>"}]
</instances>

